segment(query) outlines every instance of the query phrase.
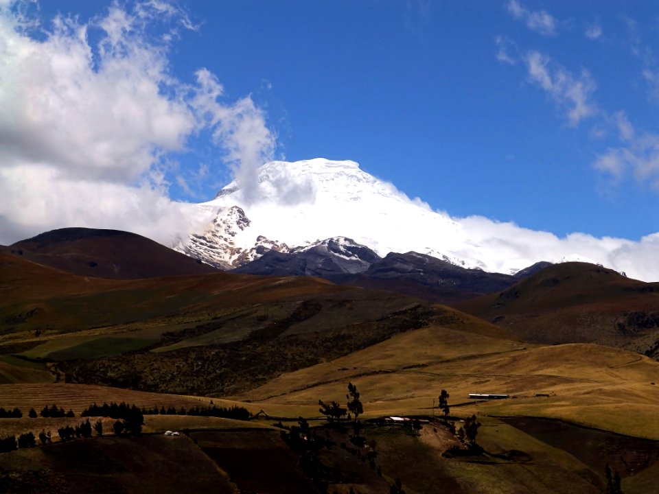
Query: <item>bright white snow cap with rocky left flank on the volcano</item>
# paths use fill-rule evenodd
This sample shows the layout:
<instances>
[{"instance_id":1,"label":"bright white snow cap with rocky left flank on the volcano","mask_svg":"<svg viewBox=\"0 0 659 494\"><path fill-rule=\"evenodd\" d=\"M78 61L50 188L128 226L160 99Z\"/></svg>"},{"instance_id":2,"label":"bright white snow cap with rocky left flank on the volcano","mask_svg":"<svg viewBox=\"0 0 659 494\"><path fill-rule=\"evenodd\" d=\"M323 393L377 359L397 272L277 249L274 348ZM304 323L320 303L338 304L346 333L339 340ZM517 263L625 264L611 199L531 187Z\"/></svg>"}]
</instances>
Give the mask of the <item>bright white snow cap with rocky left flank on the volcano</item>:
<instances>
[{"instance_id":1,"label":"bright white snow cap with rocky left flank on the volcano","mask_svg":"<svg viewBox=\"0 0 659 494\"><path fill-rule=\"evenodd\" d=\"M208 261L215 250L219 266L240 266L257 257L256 250L264 250L259 247L288 252L343 236L382 256L409 250L437 255L441 249L447 259L484 267L461 252L465 239L460 224L363 172L354 161L267 163L259 170L256 200L253 193L250 196L244 197L233 181L216 198L199 204L201 211L217 214L205 232L192 235L187 253L203 254L200 258ZM237 226L236 208L244 215Z\"/></svg>"}]
</instances>

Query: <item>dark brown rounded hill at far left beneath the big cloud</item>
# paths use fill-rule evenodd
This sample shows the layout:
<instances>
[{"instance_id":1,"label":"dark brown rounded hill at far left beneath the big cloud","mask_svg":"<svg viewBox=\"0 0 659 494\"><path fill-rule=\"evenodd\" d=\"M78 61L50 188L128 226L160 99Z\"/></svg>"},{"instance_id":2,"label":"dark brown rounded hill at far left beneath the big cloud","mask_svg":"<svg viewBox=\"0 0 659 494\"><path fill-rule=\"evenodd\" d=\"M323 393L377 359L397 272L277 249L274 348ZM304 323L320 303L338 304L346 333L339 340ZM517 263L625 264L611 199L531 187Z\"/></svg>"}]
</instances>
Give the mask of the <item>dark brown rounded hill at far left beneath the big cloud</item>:
<instances>
[{"instance_id":1,"label":"dark brown rounded hill at far left beneath the big cloud","mask_svg":"<svg viewBox=\"0 0 659 494\"><path fill-rule=\"evenodd\" d=\"M217 272L146 237L117 230L61 228L16 242L9 249L30 261L88 277L140 279Z\"/></svg>"}]
</instances>

